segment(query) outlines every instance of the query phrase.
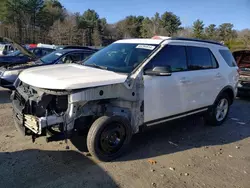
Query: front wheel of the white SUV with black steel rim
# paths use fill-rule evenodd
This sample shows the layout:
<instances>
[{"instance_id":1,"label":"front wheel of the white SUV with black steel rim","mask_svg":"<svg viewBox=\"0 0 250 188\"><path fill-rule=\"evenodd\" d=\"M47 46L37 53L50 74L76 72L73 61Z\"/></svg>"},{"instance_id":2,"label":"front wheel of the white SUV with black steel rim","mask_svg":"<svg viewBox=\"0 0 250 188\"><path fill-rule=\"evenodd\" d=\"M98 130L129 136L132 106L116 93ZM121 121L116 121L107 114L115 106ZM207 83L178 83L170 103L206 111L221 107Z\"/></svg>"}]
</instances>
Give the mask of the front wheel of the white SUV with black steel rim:
<instances>
[{"instance_id":1,"label":"front wheel of the white SUV with black steel rim","mask_svg":"<svg viewBox=\"0 0 250 188\"><path fill-rule=\"evenodd\" d=\"M131 125L126 118L102 116L89 129L87 147L90 154L98 160L111 161L125 151L131 137Z\"/></svg>"}]
</instances>

